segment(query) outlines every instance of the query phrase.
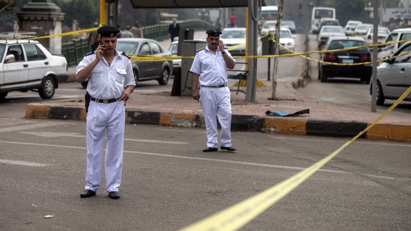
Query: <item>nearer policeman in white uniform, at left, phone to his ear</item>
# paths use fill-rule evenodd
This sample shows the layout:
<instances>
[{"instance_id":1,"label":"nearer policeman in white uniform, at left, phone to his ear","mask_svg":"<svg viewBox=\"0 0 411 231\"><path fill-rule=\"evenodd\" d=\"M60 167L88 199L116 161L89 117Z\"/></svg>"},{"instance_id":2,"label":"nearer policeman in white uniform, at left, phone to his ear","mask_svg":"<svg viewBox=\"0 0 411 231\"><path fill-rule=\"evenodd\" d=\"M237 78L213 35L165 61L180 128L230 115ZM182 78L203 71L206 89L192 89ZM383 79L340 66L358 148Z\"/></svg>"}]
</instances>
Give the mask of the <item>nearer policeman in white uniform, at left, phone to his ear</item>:
<instances>
[{"instance_id":1,"label":"nearer policeman in white uniform, at left, phone to his ear","mask_svg":"<svg viewBox=\"0 0 411 231\"><path fill-rule=\"evenodd\" d=\"M100 188L105 130L105 180L108 195L119 199L119 186L123 165L125 102L133 92L132 63L129 56L116 50L116 27L103 26L97 31L100 45L95 52L86 54L76 69L76 80L88 78L87 92L90 97L87 125L87 172L85 190L80 197L96 195Z\"/></svg>"}]
</instances>

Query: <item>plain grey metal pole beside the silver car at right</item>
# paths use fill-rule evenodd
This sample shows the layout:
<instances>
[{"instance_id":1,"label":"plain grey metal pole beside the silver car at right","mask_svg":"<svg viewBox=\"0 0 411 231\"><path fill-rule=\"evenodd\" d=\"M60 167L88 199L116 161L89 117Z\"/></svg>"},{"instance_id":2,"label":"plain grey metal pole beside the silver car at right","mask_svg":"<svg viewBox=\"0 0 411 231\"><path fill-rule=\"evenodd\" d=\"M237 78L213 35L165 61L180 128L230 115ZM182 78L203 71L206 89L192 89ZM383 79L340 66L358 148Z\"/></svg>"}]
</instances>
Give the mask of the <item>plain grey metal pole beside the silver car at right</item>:
<instances>
[{"instance_id":1,"label":"plain grey metal pole beside the silver car at right","mask_svg":"<svg viewBox=\"0 0 411 231\"><path fill-rule=\"evenodd\" d=\"M372 43L377 44L378 38L378 0L374 0L374 9L373 9L373 33L372 33ZM371 111L376 112L377 109L377 59L378 59L378 47L372 48L372 83L371 83Z\"/></svg>"}]
</instances>

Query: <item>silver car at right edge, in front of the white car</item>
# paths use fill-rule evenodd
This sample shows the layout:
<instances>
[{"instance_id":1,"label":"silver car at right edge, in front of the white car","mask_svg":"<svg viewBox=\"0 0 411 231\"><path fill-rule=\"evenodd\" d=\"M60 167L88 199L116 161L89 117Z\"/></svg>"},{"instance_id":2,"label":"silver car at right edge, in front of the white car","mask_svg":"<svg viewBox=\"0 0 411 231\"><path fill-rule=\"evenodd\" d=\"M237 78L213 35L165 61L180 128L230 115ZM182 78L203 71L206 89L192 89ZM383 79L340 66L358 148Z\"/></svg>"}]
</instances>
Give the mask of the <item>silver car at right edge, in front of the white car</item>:
<instances>
[{"instance_id":1,"label":"silver car at right edge, in front of the white car","mask_svg":"<svg viewBox=\"0 0 411 231\"><path fill-rule=\"evenodd\" d=\"M411 41L403 44L391 56L411 51ZM384 105L385 99L398 99L411 86L411 54L382 62L377 67L377 105ZM370 94L371 94L370 84ZM411 101L411 94L404 99Z\"/></svg>"}]
</instances>

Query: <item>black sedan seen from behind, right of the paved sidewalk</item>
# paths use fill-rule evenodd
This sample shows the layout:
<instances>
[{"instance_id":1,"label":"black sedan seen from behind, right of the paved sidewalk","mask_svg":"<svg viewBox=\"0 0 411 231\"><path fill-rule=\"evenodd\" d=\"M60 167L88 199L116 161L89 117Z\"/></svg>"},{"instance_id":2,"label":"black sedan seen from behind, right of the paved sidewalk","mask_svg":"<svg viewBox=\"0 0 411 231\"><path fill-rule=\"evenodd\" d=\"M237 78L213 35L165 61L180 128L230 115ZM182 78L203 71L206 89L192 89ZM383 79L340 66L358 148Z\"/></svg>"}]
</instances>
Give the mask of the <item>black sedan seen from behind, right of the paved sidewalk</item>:
<instances>
[{"instance_id":1,"label":"black sedan seen from behind, right of the paved sidewalk","mask_svg":"<svg viewBox=\"0 0 411 231\"><path fill-rule=\"evenodd\" d=\"M334 36L330 37L325 50L338 50L349 47L365 46L362 37L352 36ZM368 47L345 50L337 52L328 52L321 54L321 60L330 63L350 64L371 62L371 52ZM327 82L332 77L360 78L362 82L369 83L372 74L371 64L358 66L337 66L327 63L319 63L318 78L321 82Z\"/></svg>"}]
</instances>

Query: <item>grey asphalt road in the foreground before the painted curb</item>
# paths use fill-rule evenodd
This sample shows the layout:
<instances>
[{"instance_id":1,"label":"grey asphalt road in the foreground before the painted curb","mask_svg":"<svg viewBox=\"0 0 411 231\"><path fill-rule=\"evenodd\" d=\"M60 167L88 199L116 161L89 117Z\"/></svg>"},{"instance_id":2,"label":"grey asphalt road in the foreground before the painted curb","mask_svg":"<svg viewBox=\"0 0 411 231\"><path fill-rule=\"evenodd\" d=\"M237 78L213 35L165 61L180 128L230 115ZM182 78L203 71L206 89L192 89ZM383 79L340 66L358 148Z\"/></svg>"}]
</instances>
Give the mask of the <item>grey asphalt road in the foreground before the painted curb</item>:
<instances>
[{"instance_id":1,"label":"grey asphalt road in the foreground before the painted curb","mask_svg":"<svg viewBox=\"0 0 411 231\"><path fill-rule=\"evenodd\" d=\"M345 139L233 132L204 153L204 129L126 124L120 200L84 187L85 122L3 118L1 230L174 230L245 200ZM411 228L410 144L358 141L242 230ZM54 218L45 219L46 215Z\"/></svg>"}]
</instances>

